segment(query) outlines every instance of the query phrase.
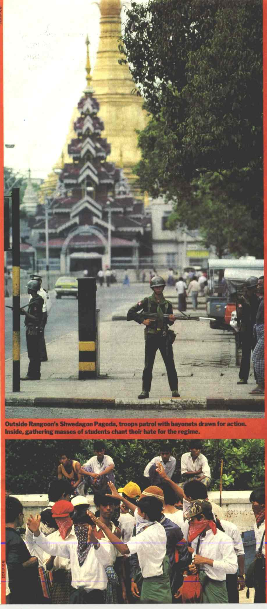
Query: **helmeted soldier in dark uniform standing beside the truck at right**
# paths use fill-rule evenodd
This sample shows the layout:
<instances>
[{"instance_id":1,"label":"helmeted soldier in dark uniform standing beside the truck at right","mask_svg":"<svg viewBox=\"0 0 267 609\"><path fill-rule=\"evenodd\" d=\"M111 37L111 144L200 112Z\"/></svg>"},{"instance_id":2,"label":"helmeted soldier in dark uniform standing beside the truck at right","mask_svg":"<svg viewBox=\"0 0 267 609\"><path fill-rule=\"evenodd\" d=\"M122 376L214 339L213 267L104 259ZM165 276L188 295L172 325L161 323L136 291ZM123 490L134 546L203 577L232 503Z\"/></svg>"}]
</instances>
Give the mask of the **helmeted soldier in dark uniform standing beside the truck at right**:
<instances>
[{"instance_id":1,"label":"helmeted soldier in dark uniform standing beside the truck at right","mask_svg":"<svg viewBox=\"0 0 267 609\"><path fill-rule=\"evenodd\" d=\"M253 326L256 323L258 306L260 299L256 291L258 278L251 276L244 283L244 293L237 297L237 328L241 341L241 364L239 370L239 381L237 385L247 385L249 369L251 367L251 351L257 343L257 338L253 334ZM254 370L255 379L255 370Z\"/></svg>"}]
</instances>

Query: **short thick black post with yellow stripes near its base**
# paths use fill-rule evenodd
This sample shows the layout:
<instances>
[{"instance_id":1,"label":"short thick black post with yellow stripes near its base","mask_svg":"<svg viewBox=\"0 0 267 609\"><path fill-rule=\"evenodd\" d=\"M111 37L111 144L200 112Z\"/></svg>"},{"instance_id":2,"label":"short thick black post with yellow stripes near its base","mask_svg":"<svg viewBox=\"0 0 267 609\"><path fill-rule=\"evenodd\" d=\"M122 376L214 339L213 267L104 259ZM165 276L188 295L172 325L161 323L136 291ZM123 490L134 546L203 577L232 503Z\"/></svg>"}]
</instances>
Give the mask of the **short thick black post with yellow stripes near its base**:
<instances>
[{"instance_id":1,"label":"short thick black post with yellow stripes near its base","mask_svg":"<svg viewBox=\"0 0 267 609\"><path fill-rule=\"evenodd\" d=\"M97 376L97 304L94 277L78 279L79 379Z\"/></svg>"}]
</instances>

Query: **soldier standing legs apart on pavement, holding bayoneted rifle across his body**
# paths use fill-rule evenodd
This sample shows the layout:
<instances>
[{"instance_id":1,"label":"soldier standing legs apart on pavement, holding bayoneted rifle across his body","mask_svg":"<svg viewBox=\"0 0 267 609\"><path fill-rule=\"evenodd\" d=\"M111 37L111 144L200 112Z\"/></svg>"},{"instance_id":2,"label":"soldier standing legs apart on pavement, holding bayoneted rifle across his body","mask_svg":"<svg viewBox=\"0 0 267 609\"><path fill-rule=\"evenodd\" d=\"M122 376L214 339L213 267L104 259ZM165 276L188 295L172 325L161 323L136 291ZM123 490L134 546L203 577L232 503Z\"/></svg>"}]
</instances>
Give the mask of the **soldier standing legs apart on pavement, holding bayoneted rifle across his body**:
<instances>
[{"instance_id":1,"label":"soldier standing legs apart on pavement, holding bayoneted rifle across his body","mask_svg":"<svg viewBox=\"0 0 267 609\"><path fill-rule=\"evenodd\" d=\"M172 348L175 334L168 329L168 325L171 326L175 322L173 306L172 303L164 298L165 281L162 277L158 275L154 276L151 279L150 287L153 290L153 295L140 300L127 313L128 322L134 320L134 322L145 326L145 367L142 376L142 392L138 398L140 400L149 398L154 359L158 349L161 352L167 370L168 384L170 385L172 396L173 398L179 398L178 378ZM142 315L140 315L140 311L142 311ZM144 319L144 313L155 313L158 317L156 321ZM168 315L168 320L164 319L164 314Z\"/></svg>"}]
</instances>

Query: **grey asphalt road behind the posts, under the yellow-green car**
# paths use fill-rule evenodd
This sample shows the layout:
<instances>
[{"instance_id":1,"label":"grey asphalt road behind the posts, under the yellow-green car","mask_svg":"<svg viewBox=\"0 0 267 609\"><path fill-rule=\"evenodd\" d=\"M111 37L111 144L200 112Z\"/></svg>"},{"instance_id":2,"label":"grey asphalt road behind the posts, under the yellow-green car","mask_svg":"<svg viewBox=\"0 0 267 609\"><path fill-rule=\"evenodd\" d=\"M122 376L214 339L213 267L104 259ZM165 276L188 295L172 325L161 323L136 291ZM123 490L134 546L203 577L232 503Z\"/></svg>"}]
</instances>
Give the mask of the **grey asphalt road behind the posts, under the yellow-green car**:
<instances>
[{"instance_id":1,"label":"grey asphalt road behind the posts, under the yellow-green car","mask_svg":"<svg viewBox=\"0 0 267 609\"><path fill-rule=\"evenodd\" d=\"M132 284L130 287L122 284L97 286L97 308L100 309L100 322L111 319L112 313L127 303L137 302L150 294L148 284ZM49 292L52 309L45 329L46 343L58 339L64 334L78 329L78 301L74 297L63 296L56 300L54 290ZM26 305L27 295L21 296L21 306ZM12 298L5 298L5 305L12 306ZM24 317L21 317L21 354L26 353L26 336ZM5 309L5 359L12 358L12 311Z\"/></svg>"}]
</instances>

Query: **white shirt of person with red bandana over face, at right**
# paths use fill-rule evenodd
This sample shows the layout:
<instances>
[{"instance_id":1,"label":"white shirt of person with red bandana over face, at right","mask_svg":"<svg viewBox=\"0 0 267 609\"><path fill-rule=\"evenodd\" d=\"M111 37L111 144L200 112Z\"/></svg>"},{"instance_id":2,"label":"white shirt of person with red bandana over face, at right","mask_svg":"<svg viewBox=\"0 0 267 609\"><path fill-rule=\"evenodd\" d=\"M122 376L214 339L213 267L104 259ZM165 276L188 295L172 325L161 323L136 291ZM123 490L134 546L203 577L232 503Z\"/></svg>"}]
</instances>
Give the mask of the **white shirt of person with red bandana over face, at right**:
<instances>
[{"instance_id":1,"label":"white shirt of person with red bandana over face, at right","mask_svg":"<svg viewBox=\"0 0 267 609\"><path fill-rule=\"evenodd\" d=\"M197 544L198 537L192 541L194 550L192 558L195 556ZM238 563L234 541L229 535L218 529L216 535L213 535L212 530L206 531L205 537L200 540L198 554L213 560L213 566L200 565L200 570L205 571L210 579L223 582L226 579L227 573L234 575L237 572Z\"/></svg>"}]
</instances>

